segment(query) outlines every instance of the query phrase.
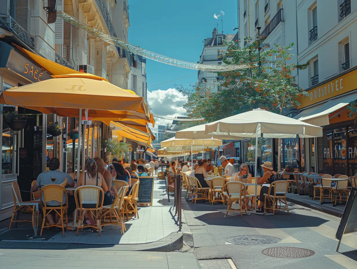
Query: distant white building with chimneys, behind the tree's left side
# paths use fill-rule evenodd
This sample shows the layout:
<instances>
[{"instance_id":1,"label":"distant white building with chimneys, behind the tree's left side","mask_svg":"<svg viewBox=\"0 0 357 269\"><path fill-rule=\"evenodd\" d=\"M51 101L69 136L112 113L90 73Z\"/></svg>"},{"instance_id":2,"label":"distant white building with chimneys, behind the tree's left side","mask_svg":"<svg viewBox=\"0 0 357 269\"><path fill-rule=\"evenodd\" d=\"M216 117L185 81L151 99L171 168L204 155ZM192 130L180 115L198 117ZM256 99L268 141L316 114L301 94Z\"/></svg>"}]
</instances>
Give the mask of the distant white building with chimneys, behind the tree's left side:
<instances>
[{"instance_id":1,"label":"distant white building with chimneys, behind the tree's left side","mask_svg":"<svg viewBox=\"0 0 357 269\"><path fill-rule=\"evenodd\" d=\"M223 54L221 50L226 50L227 46L223 46L223 40L231 41L234 38L234 34L224 35L218 33L217 29L214 28L212 32L212 37L207 38L203 41L203 50L200 56L200 64L210 64L210 65L220 65L223 64ZM198 70L197 73L198 81L203 82L203 88L210 88L213 93L219 90L218 80L219 77L217 73L212 73L209 71ZM203 79L203 80L202 80ZM205 82L206 80L207 82ZM202 90L203 91L203 90Z\"/></svg>"}]
</instances>

